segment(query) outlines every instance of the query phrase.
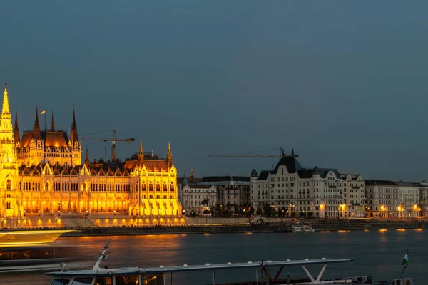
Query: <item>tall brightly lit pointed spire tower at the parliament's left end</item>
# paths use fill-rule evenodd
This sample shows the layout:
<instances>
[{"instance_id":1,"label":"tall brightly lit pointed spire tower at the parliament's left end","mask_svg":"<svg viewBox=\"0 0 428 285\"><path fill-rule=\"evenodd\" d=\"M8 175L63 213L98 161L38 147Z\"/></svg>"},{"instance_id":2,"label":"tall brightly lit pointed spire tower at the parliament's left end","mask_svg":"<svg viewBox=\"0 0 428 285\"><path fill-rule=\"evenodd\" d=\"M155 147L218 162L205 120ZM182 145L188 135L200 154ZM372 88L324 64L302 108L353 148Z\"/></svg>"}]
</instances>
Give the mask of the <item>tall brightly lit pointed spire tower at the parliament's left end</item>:
<instances>
[{"instance_id":1,"label":"tall brightly lit pointed spire tower at the parliament's left end","mask_svg":"<svg viewBox=\"0 0 428 285\"><path fill-rule=\"evenodd\" d=\"M4 83L3 105L0 114L0 216L19 216L20 204L16 189L18 185L18 164L16 145L12 128L7 85Z\"/></svg>"}]
</instances>

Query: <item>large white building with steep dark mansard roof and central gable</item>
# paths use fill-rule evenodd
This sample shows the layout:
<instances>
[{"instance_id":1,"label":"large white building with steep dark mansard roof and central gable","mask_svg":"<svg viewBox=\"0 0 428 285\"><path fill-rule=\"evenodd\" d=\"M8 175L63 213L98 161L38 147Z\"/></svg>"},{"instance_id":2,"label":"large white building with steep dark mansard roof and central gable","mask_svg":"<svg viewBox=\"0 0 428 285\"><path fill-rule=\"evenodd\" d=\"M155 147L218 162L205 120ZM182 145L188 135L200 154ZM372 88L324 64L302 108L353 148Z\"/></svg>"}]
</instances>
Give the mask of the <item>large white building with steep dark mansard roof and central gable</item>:
<instances>
[{"instance_id":1,"label":"large white building with steep dark mansard roof and central gable","mask_svg":"<svg viewBox=\"0 0 428 285\"><path fill-rule=\"evenodd\" d=\"M295 155L282 157L275 169L251 172L251 204L264 204L289 215L340 217L344 181L328 168L303 168Z\"/></svg>"}]
</instances>

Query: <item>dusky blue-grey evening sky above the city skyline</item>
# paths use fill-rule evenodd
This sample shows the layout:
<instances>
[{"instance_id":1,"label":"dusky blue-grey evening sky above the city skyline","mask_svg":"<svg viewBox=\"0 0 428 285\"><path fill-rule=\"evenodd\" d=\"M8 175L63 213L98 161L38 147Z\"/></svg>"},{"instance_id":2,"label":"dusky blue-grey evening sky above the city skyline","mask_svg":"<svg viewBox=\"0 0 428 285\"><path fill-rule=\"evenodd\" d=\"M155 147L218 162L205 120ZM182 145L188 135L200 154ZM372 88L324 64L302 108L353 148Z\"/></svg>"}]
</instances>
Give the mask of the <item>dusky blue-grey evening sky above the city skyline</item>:
<instances>
[{"instance_id":1,"label":"dusky blue-grey evening sky above the city skyline","mask_svg":"<svg viewBox=\"0 0 428 285\"><path fill-rule=\"evenodd\" d=\"M428 2L4 1L0 82L19 128L117 130L178 175L250 175L294 148L365 179L427 173ZM40 117L44 123L44 117ZM93 136L110 138L111 132ZM83 141L91 160L110 142ZM279 153L271 150L265 153ZM83 153L84 155L84 153Z\"/></svg>"}]
</instances>

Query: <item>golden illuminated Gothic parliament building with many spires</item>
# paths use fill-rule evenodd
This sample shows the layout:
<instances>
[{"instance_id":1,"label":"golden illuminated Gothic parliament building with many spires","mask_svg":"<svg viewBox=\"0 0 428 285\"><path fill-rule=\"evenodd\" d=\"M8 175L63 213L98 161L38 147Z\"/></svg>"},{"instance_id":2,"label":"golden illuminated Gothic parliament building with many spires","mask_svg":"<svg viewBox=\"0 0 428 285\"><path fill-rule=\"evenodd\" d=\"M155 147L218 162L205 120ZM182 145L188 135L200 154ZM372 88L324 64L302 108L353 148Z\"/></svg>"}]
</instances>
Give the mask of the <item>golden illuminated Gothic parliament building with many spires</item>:
<instances>
[{"instance_id":1,"label":"golden illuminated Gothic parliament building with many spires","mask_svg":"<svg viewBox=\"0 0 428 285\"><path fill-rule=\"evenodd\" d=\"M82 163L73 110L71 133L41 130L36 109L34 128L19 135L17 113L12 126L4 86L0 115L0 217L26 214L115 213L145 217L178 216L177 170L168 144L165 158L138 154L125 162Z\"/></svg>"}]
</instances>

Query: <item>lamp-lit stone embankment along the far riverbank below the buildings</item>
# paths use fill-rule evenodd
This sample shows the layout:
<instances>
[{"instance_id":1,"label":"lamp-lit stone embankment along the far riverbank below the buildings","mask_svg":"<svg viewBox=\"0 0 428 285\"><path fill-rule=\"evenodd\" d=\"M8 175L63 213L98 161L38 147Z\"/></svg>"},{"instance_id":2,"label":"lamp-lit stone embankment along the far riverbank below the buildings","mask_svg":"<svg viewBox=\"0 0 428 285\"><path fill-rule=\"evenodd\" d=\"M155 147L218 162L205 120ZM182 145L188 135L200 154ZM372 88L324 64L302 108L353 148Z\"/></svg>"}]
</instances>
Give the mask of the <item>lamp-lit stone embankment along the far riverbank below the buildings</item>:
<instances>
[{"instance_id":1,"label":"lamp-lit stone embankment along the far riverbank below the buildings","mask_svg":"<svg viewBox=\"0 0 428 285\"><path fill-rule=\"evenodd\" d=\"M26 217L4 220L2 231L32 229L75 229L64 236L104 236L138 234L209 234L238 232L291 232L291 224L301 221L293 218L267 218L254 224L248 217L129 217L104 215L85 217L63 215L60 217ZM316 231L370 230L370 229L425 229L425 219L309 219Z\"/></svg>"}]
</instances>

